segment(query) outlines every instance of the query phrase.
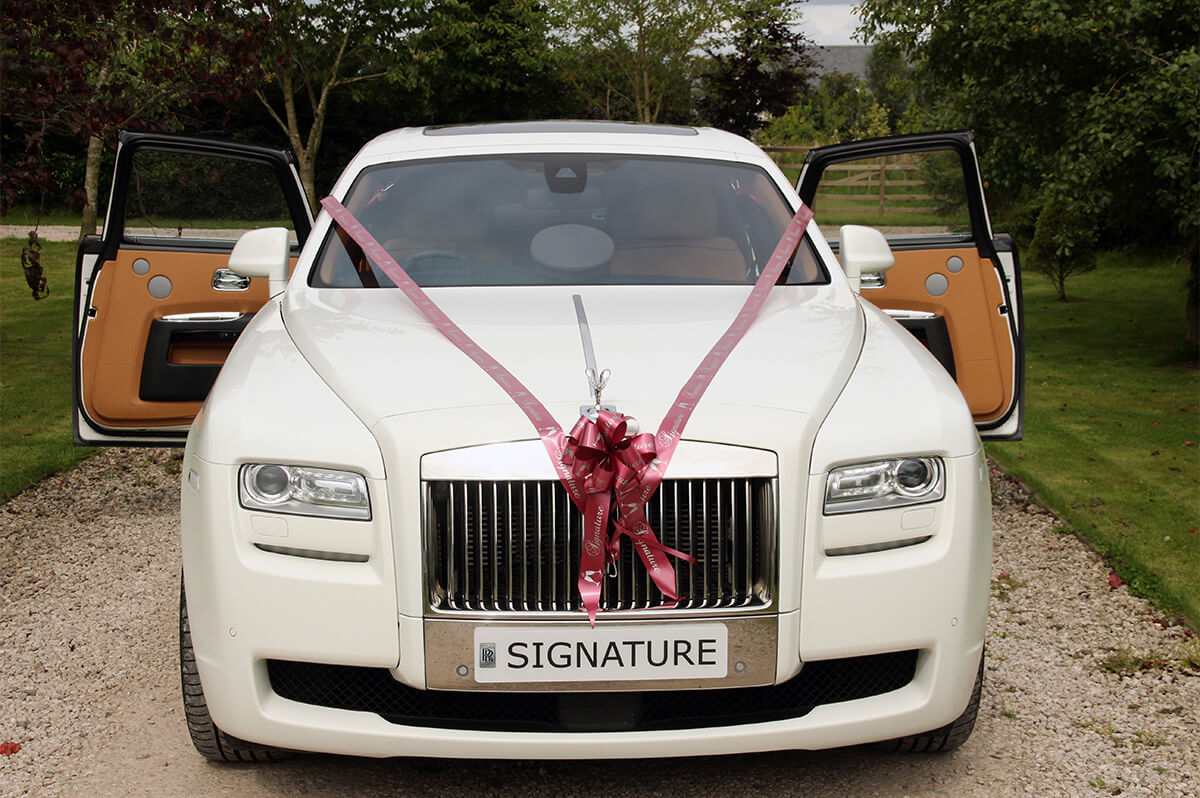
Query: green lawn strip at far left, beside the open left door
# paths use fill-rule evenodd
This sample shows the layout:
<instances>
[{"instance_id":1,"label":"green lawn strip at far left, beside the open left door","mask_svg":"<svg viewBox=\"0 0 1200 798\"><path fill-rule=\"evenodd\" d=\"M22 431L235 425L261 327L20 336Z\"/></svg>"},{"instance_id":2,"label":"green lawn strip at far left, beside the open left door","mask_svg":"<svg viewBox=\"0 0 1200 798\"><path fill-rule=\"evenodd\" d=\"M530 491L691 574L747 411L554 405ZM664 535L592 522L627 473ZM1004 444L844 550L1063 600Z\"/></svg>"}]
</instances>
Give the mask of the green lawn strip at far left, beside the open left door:
<instances>
[{"instance_id":1,"label":"green lawn strip at far left, beside the open left door","mask_svg":"<svg viewBox=\"0 0 1200 798\"><path fill-rule=\"evenodd\" d=\"M50 294L34 301L20 239L0 239L0 498L74 466L92 450L71 437L74 244L43 244Z\"/></svg>"}]
</instances>

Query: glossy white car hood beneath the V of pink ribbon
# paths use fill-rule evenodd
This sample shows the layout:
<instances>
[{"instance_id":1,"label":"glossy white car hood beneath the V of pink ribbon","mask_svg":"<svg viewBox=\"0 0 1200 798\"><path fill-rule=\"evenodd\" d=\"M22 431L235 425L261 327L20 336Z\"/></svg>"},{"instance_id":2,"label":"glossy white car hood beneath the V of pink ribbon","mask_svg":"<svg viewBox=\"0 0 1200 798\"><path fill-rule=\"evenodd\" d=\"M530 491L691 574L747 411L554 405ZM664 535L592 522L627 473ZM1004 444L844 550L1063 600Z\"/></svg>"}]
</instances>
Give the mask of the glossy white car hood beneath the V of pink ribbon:
<instances>
[{"instance_id":1,"label":"glossy white car hood beneath the V of pink ribbon","mask_svg":"<svg viewBox=\"0 0 1200 798\"><path fill-rule=\"evenodd\" d=\"M427 293L569 428L578 406L592 403L574 295L582 296L596 362L612 372L604 402L656 425L749 290L556 286ZM514 404L400 290L293 287L283 322L304 358L367 427L400 414ZM776 287L701 406L823 418L853 370L863 330L857 299L845 287Z\"/></svg>"}]
</instances>

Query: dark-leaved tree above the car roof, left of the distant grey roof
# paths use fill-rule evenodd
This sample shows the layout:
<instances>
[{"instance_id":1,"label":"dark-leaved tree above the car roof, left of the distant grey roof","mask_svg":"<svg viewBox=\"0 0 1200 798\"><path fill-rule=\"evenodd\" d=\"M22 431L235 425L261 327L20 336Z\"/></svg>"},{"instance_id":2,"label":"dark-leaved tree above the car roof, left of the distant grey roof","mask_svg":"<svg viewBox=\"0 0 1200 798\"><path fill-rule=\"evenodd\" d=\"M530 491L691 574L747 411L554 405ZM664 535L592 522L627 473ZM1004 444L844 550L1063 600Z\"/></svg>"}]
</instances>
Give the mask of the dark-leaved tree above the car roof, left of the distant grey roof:
<instances>
[{"instance_id":1,"label":"dark-leaved tree above the car roof, left of the distant grey roof","mask_svg":"<svg viewBox=\"0 0 1200 798\"><path fill-rule=\"evenodd\" d=\"M752 136L808 92L816 60L810 42L793 26L798 5L751 0L738 12L731 47L709 47L697 102L704 121Z\"/></svg>"}]
</instances>

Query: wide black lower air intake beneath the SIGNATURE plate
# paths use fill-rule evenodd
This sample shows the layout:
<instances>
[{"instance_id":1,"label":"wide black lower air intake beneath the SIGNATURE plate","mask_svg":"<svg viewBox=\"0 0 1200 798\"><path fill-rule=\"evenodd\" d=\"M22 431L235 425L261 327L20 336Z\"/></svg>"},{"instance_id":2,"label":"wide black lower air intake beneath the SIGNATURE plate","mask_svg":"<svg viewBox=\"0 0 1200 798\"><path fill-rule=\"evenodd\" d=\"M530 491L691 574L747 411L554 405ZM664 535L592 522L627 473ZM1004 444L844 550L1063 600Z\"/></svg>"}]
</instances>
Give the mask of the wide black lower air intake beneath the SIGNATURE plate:
<instances>
[{"instance_id":1,"label":"wide black lower air intake beneath the SIGNATURE plate","mask_svg":"<svg viewBox=\"0 0 1200 798\"><path fill-rule=\"evenodd\" d=\"M793 679L767 688L647 692L454 692L416 690L386 668L268 661L283 698L332 709L373 712L404 726L476 731L653 731L707 728L800 718L822 704L899 690L917 670L917 652L808 662ZM622 718L576 725L581 704L619 703Z\"/></svg>"}]
</instances>

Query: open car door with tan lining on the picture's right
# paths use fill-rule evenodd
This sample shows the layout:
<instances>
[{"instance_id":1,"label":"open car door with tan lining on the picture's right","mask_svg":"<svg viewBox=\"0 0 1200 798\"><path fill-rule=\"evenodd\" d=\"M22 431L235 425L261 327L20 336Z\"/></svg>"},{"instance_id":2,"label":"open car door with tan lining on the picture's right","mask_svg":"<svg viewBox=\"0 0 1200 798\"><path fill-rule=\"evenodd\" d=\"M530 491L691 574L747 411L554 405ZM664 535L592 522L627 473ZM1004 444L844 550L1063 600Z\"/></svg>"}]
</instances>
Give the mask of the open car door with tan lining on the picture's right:
<instances>
[{"instance_id":1,"label":"open car door with tan lining on the picture's right","mask_svg":"<svg viewBox=\"0 0 1200 798\"><path fill-rule=\"evenodd\" d=\"M862 296L917 336L958 382L984 439L1018 440L1025 408L1016 248L995 235L970 132L812 150L796 187L838 250L841 224L876 227L895 265Z\"/></svg>"}]
</instances>

